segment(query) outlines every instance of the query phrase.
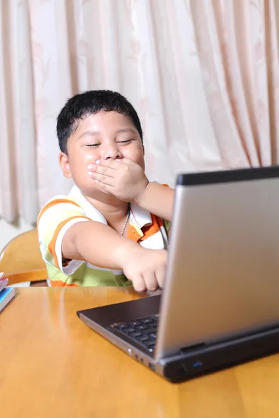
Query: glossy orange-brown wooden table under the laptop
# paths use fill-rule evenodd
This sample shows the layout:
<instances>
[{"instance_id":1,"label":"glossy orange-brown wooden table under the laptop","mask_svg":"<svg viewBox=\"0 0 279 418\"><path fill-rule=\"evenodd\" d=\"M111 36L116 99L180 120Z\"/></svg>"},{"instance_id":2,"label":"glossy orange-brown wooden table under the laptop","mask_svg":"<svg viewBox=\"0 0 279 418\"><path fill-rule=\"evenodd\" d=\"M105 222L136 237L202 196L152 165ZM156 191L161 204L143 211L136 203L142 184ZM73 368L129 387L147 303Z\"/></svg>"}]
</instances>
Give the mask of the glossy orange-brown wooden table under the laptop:
<instances>
[{"instance_id":1,"label":"glossy orange-brown wooden table under the laptop","mask_svg":"<svg viewBox=\"0 0 279 418\"><path fill-rule=\"evenodd\" d=\"M116 288L18 288L0 314L3 418L275 418L279 355L171 384L75 312L137 298Z\"/></svg>"}]
</instances>

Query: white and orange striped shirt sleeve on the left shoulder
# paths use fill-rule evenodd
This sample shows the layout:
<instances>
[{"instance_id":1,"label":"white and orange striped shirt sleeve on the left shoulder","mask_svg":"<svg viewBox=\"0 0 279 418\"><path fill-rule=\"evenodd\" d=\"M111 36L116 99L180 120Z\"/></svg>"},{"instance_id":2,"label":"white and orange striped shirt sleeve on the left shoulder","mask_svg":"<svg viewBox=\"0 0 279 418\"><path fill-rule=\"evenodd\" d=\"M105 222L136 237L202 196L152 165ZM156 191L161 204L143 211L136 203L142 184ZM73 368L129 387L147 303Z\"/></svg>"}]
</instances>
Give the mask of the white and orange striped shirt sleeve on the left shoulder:
<instances>
[{"instance_id":1,"label":"white and orange striped shirt sleeve on the left shoulder","mask_svg":"<svg viewBox=\"0 0 279 418\"><path fill-rule=\"evenodd\" d=\"M63 274L73 274L84 261L65 260L62 257L62 240L66 231L77 222L90 221L84 210L72 199L53 199L38 216L38 239L45 263L55 266Z\"/></svg>"}]
</instances>

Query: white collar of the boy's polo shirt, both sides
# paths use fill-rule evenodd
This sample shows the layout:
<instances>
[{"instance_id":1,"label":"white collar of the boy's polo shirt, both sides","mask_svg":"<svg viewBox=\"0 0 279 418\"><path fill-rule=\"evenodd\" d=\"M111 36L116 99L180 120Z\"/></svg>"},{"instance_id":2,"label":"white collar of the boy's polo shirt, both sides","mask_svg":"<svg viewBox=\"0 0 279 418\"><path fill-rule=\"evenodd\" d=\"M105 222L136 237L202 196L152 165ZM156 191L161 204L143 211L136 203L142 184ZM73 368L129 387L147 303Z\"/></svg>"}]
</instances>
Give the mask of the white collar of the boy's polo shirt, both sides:
<instances>
[{"instance_id":1,"label":"white collar of the boy's polo shirt, both sides","mask_svg":"<svg viewBox=\"0 0 279 418\"><path fill-rule=\"evenodd\" d=\"M102 222L103 224L107 224L105 217L85 199L82 192L80 192L80 189L76 185L73 186L68 196L75 199L75 201L80 204L88 217L98 222ZM135 203L131 203L130 208L135 222L137 222L138 226L140 226L140 229L142 229L143 226L152 224L150 212L140 208L140 206Z\"/></svg>"}]
</instances>

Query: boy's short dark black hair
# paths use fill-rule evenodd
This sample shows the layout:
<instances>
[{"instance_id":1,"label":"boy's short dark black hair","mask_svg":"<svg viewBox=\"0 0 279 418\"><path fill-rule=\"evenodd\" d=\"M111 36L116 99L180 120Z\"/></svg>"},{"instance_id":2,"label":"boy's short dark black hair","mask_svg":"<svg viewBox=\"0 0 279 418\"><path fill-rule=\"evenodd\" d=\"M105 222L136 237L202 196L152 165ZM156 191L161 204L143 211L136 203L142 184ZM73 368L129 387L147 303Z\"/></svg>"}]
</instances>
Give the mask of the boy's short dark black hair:
<instances>
[{"instance_id":1,"label":"boy's short dark black hair","mask_svg":"<svg viewBox=\"0 0 279 418\"><path fill-rule=\"evenodd\" d=\"M120 93L110 90L91 90L70 98L57 117L56 132L62 153L67 153L67 141L77 129L78 121L100 111L118 111L128 116L142 139L142 126L132 104Z\"/></svg>"}]
</instances>

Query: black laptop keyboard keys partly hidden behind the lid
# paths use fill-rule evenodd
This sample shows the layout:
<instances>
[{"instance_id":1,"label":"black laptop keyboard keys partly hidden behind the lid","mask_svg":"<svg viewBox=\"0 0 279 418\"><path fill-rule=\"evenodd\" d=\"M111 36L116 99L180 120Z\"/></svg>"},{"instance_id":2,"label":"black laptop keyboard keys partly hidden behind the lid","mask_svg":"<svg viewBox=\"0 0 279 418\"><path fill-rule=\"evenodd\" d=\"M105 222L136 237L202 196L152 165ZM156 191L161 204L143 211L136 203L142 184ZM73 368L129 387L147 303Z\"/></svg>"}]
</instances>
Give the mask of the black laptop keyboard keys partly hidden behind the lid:
<instances>
[{"instance_id":1,"label":"black laptop keyboard keys partly hidden behind the lid","mask_svg":"<svg viewBox=\"0 0 279 418\"><path fill-rule=\"evenodd\" d=\"M114 323L110 325L110 328L116 331L117 334L140 343L144 348L147 348L149 353L153 353L156 343L158 318L158 315L146 316L146 318L130 322Z\"/></svg>"}]
</instances>

